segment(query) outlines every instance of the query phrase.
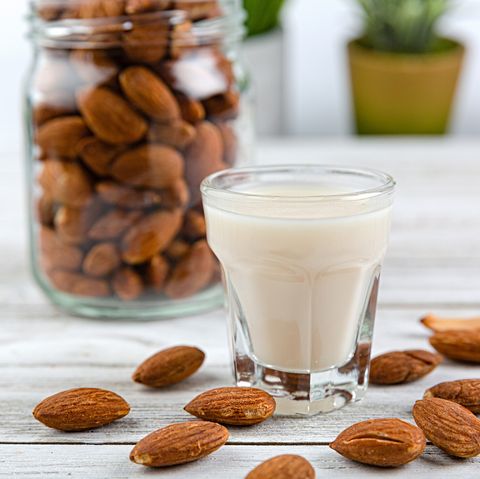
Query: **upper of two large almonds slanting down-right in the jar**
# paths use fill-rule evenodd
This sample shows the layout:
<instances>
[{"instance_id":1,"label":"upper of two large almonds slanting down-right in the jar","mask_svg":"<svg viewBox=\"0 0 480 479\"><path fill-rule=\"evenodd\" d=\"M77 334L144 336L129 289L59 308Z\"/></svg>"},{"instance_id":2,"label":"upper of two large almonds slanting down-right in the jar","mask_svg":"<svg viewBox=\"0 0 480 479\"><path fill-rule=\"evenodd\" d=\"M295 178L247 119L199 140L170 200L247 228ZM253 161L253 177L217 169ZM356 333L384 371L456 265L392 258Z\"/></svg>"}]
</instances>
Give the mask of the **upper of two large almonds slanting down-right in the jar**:
<instances>
[{"instance_id":1,"label":"upper of two large almonds slanting down-right in the jar","mask_svg":"<svg viewBox=\"0 0 480 479\"><path fill-rule=\"evenodd\" d=\"M165 83L148 68L126 68L120 74L119 80L126 97L149 117L159 122L180 118L180 108L175 97Z\"/></svg>"}]
</instances>

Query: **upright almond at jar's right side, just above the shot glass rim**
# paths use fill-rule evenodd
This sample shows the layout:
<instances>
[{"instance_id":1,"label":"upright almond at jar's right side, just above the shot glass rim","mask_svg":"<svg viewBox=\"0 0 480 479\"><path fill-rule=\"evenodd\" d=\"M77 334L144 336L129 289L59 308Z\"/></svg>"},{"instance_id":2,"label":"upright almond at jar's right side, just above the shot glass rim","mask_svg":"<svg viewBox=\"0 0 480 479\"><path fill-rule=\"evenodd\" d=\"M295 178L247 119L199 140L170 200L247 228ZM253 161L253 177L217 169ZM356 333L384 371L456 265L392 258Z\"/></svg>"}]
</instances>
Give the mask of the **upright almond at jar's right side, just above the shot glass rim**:
<instances>
[{"instance_id":1,"label":"upright almond at jar's right side, just above the shot glass rim","mask_svg":"<svg viewBox=\"0 0 480 479\"><path fill-rule=\"evenodd\" d=\"M197 126L197 136L185 152L185 176L193 203L200 200L200 184L208 175L223 168L223 141L218 128L204 121Z\"/></svg>"}]
</instances>

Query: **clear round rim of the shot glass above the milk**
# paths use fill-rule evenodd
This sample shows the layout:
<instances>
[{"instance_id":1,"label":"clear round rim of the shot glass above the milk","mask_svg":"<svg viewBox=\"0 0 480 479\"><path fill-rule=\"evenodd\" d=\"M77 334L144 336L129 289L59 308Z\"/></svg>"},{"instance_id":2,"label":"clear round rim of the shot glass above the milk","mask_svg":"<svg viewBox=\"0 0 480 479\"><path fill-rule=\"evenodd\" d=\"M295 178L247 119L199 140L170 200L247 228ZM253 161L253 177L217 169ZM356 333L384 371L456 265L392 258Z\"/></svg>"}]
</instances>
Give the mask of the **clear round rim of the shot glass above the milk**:
<instances>
[{"instance_id":1,"label":"clear round rim of the shot glass above the milk","mask_svg":"<svg viewBox=\"0 0 480 479\"><path fill-rule=\"evenodd\" d=\"M371 188L363 188L355 191L349 191L340 194L323 194L323 195L278 195L278 194L258 194L248 191L239 191L226 188L221 185L221 181L228 177L235 177L248 174L281 174L281 173L308 173L317 172L323 175L351 175L352 177L364 177L376 180L379 182L378 186ZM339 166L328 164L286 164L286 165L264 165L264 166L250 166L241 168L229 168L222 170L205 178L200 186L202 194L207 198L209 193L221 193L223 197L244 198L258 201L279 200L287 202L318 202L318 201L341 201L341 200L362 200L377 199L382 196L391 195L396 187L396 182L393 177L383 171L374 168L356 167L356 166Z\"/></svg>"}]
</instances>

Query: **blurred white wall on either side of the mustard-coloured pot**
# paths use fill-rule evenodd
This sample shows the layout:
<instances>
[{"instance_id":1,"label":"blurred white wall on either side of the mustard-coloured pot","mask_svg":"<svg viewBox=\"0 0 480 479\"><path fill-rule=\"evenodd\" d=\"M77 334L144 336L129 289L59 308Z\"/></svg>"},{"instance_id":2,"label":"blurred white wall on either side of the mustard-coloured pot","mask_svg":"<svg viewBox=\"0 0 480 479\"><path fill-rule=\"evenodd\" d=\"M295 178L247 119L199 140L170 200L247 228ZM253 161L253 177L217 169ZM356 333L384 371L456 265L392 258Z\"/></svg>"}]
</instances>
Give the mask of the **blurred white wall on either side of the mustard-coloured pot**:
<instances>
[{"instance_id":1,"label":"blurred white wall on either side of the mustard-coloured pot","mask_svg":"<svg viewBox=\"0 0 480 479\"><path fill-rule=\"evenodd\" d=\"M289 95L288 130L293 134L351 131L345 44L359 32L354 0L290 0L285 15ZM480 134L480 0L456 0L444 33L467 44L454 133Z\"/></svg>"}]
</instances>

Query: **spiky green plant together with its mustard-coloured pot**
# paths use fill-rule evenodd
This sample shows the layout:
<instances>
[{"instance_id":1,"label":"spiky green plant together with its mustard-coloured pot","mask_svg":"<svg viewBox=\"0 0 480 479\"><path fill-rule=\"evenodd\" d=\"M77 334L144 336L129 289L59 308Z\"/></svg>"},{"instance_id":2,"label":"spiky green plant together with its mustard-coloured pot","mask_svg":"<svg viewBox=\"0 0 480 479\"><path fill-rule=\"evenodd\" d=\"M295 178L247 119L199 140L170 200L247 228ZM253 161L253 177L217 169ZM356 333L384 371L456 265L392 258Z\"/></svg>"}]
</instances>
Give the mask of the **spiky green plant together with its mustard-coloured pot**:
<instances>
[{"instance_id":1,"label":"spiky green plant together with its mustard-coloured pot","mask_svg":"<svg viewBox=\"0 0 480 479\"><path fill-rule=\"evenodd\" d=\"M348 45L359 134L443 134L464 47L439 35L450 0L357 0L363 33Z\"/></svg>"}]
</instances>

